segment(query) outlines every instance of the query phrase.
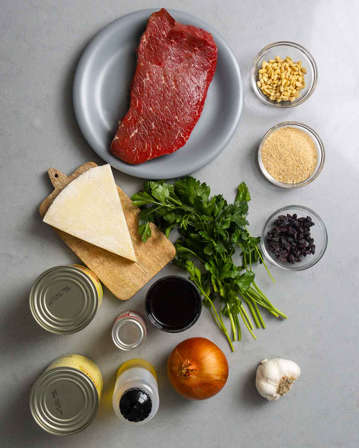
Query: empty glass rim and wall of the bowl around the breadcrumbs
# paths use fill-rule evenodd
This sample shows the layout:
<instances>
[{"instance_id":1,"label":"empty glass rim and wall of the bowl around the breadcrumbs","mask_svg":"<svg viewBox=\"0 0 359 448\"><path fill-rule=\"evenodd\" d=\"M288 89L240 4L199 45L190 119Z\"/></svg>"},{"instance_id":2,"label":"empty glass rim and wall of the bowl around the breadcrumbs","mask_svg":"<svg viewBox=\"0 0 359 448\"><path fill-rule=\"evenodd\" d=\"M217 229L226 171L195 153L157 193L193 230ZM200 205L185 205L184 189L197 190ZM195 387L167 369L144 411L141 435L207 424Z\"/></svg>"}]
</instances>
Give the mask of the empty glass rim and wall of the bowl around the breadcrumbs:
<instances>
[{"instance_id":1,"label":"empty glass rim and wall of the bowl around the breadcrumbs","mask_svg":"<svg viewBox=\"0 0 359 448\"><path fill-rule=\"evenodd\" d=\"M280 128L297 128L301 129L302 131L306 132L314 141L315 146L317 148L317 166L315 167L314 172L309 176L307 179L304 179L304 181L297 182L295 184L287 184L285 182L277 181L274 177L271 177L269 172L267 172L266 168L264 168L263 161L262 161L262 148L263 144L266 141L267 137L274 131ZM320 139L319 135L315 132L314 129L310 128L309 126L305 125L304 123L299 123L299 121L284 121L283 123L279 123L278 125L273 126L269 131L264 135L262 138L262 141L260 142L258 146L258 164L259 168L263 172L264 176L267 177L268 181L270 181L272 184L277 185L278 187L282 188L299 188L303 187L304 185L310 184L316 177L319 176L319 173L322 171L323 166L325 162L325 149L324 144L322 140Z\"/></svg>"}]
</instances>

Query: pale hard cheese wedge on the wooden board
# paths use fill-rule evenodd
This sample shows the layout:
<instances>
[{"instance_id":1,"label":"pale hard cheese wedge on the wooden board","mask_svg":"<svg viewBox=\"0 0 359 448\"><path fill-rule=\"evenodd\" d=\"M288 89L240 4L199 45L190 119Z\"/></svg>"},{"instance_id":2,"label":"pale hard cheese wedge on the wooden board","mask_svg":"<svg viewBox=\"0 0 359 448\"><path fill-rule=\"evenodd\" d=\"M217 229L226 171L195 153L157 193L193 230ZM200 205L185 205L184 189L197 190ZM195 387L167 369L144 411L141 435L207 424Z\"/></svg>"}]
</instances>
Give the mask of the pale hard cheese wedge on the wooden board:
<instances>
[{"instance_id":1,"label":"pale hard cheese wedge on the wooden board","mask_svg":"<svg viewBox=\"0 0 359 448\"><path fill-rule=\"evenodd\" d=\"M49 207L44 222L137 261L109 164L91 168L67 185Z\"/></svg>"}]
</instances>

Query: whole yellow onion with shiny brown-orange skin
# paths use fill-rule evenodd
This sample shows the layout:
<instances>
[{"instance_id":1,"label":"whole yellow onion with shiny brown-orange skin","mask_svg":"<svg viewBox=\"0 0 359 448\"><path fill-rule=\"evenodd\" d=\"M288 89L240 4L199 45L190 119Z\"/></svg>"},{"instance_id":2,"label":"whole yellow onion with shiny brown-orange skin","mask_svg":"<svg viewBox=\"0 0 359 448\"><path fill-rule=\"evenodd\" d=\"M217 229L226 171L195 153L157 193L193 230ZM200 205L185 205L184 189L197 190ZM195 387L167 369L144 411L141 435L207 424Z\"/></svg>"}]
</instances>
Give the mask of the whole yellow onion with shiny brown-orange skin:
<instances>
[{"instance_id":1,"label":"whole yellow onion with shiny brown-orange skin","mask_svg":"<svg viewBox=\"0 0 359 448\"><path fill-rule=\"evenodd\" d=\"M167 375L178 393L192 400L217 394L228 378L228 362L217 345L204 337L178 344L167 362Z\"/></svg>"}]
</instances>

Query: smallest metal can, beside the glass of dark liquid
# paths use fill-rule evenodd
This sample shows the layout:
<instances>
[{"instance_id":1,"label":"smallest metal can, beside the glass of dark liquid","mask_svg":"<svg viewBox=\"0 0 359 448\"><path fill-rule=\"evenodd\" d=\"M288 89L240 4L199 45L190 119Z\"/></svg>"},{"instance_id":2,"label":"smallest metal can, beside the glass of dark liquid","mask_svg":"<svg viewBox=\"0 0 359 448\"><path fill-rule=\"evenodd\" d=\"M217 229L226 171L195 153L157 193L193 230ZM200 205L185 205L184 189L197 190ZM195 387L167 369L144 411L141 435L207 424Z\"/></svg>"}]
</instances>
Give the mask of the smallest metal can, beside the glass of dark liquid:
<instances>
[{"instance_id":1,"label":"smallest metal can, beside the glass of dark liquid","mask_svg":"<svg viewBox=\"0 0 359 448\"><path fill-rule=\"evenodd\" d=\"M147 328L144 318L135 311L123 311L114 321L112 340L119 349L138 349L146 339Z\"/></svg>"}]
</instances>

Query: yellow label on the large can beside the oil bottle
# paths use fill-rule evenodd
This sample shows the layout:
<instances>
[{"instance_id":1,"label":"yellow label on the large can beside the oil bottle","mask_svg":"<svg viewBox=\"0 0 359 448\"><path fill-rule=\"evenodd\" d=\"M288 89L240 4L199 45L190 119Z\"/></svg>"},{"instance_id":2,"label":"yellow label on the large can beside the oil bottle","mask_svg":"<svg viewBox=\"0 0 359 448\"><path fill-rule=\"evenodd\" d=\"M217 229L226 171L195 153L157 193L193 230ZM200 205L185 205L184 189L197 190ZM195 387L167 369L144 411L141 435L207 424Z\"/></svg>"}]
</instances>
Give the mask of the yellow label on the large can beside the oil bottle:
<instances>
[{"instance_id":1,"label":"yellow label on the large can beside the oil bottle","mask_svg":"<svg viewBox=\"0 0 359 448\"><path fill-rule=\"evenodd\" d=\"M76 355L76 354L64 355L61 356L60 358L55 359L46 368L45 372L57 367L71 367L87 375L88 378L91 379L92 383L94 383L96 387L96 391L98 394L98 401L100 402L104 382L102 379L100 369L96 366L96 364L93 361L91 361L91 359L88 359L83 355Z\"/></svg>"}]
</instances>

